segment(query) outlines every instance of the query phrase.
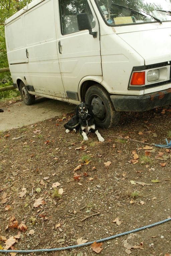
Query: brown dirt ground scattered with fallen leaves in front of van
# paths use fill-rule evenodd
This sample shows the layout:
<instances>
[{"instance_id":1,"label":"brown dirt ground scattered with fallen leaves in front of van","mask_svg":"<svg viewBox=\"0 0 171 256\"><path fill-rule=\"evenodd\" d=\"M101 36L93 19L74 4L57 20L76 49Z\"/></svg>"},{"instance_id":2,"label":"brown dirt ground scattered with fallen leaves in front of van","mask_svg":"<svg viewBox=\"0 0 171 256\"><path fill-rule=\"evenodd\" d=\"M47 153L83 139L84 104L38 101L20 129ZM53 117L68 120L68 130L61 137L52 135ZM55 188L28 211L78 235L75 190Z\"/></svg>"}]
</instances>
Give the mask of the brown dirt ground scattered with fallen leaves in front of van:
<instances>
[{"instance_id":1,"label":"brown dirt ground scattered with fallen leaves in front of van","mask_svg":"<svg viewBox=\"0 0 171 256\"><path fill-rule=\"evenodd\" d=\"M10 237L18 250L65 247L170 218L171 149L145 143L170 142L171 106L123 113L117 127L100 129L104 143L95 134L86 142L78 133L66 134L63 125L70 116L1 132L2 248ZM99 255L164 256L171 254L170 245L169 221L103 242ZM84 246L46 254L97 253Z\"/></svg>"}]
</instances>

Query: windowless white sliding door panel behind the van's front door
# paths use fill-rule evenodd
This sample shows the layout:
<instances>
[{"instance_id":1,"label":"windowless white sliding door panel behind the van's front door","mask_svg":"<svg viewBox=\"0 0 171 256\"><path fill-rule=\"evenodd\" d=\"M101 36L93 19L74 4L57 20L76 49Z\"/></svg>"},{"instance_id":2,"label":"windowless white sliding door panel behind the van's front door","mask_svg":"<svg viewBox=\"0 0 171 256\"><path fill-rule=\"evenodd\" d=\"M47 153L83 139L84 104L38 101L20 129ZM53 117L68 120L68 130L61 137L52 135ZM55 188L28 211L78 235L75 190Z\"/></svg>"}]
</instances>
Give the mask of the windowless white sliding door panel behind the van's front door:
<instances>
[{"instance_id":1,"label":"windowless white sliding door panel behind the van's front door","mask_svg":"<svg viewBox=\"0 0 171 256\"><path fill-rule=\"evenodd\" d=\"M66 98L58 52L54 1L45 0L24 14L28 72L35 93L44 97Z\"/></svg>"}]
</instances>

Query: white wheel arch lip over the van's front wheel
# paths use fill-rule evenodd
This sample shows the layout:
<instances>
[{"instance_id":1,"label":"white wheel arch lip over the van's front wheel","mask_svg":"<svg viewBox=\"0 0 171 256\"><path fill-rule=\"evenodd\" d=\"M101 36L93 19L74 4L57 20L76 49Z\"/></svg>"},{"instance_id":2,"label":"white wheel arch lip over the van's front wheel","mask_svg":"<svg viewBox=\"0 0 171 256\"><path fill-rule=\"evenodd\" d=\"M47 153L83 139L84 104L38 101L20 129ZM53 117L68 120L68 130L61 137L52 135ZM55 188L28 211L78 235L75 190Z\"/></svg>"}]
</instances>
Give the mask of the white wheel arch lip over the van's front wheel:
<instances>
[{"instance_id":1,"label":"white wheel arch lip over the van's front wheel","mask_svg":"<svg viewBox=\"0 0 171 256\"><path fill-rule=\"evenodd\" d=\"M103 83L103 76L85 76L83 77L80 82L79 82L79 85L78 85L78 96L79 96L79 100L81 101L81 92L82 92L82 86L83 86L83 83L85 82L88 82L89 81L95 81L95 83L97 84L101 84L108 92L109 92L109 87L106 86L105 83Z\"/></svg>"}]
</instances>

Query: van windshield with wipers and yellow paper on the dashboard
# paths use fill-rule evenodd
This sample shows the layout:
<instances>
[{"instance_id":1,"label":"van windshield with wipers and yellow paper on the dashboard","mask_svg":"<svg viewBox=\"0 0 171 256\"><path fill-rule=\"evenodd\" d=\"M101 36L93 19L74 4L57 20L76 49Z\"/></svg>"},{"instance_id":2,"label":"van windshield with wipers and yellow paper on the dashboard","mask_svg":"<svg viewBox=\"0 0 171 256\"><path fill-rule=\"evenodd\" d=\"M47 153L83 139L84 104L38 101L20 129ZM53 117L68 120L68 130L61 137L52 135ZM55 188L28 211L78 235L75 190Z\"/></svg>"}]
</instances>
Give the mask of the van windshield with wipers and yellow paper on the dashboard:
<instances>
[{"instance_id":1,"label":"van windshield with wipers and yellow paper on the dashboard","mask_svg":"<svg viewBox=\"0 0 171 256\"><path fill-rule=\"evenodd\" d=\"M171 21L171 0L96 0L108 25Z\"/></svg>"}]
</instances>

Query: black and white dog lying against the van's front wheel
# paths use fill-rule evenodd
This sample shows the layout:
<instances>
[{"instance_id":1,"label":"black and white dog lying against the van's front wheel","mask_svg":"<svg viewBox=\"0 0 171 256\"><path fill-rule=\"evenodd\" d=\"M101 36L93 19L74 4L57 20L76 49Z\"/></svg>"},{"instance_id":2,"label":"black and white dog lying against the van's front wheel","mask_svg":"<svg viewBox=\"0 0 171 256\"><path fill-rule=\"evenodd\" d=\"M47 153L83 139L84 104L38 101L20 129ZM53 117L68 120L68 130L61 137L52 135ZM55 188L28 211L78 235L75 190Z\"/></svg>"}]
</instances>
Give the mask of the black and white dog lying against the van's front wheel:
<instances>
[{"instance_id":1,"label":"black and white dog lying against the van's front wheel","mask_svg":"<svg viewBox=\"0 0 171 256\"><path fill-rule=\"evenodd\" d=\"M66 129L66 133L69 133L70 131L76 132L76 130L79 129L84 141L88 140L86 132L95 133L100 142L105 141L96 127L93 106L90 104L81 102L77 105L75 108L75 115L66 124L64 124L64 127Z\"/></svg>"}]
</instances>

